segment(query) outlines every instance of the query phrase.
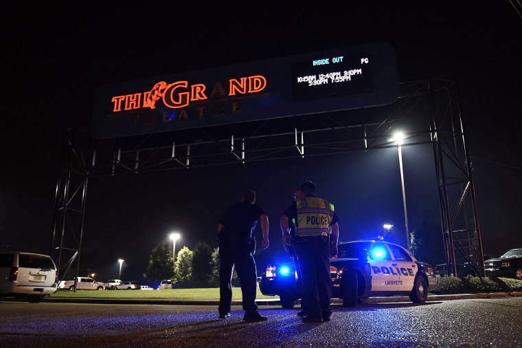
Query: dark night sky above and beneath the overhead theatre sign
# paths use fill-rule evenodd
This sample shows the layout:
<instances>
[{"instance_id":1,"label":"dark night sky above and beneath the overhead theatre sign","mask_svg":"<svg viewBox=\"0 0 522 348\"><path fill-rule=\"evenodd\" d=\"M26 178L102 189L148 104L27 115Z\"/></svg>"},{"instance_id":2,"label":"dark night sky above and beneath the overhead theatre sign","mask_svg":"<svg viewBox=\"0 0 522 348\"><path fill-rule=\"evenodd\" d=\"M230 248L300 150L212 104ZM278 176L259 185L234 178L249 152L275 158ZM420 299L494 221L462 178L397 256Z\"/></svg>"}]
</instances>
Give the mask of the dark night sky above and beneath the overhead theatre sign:
<instances>
[{"instance_id":1,"label":"dark night sky above and beneath the overhead theatre sign","mask_svg":"<svg viewBox=\"0 0 522 348\"><path fill-rule=\"evenodd\" d=\"M520 9L519 9L520 11ZM65 130L89 123L97 87L385 41L400 82L457 81L473 162L484 254L522 246L522 18L510 1L364 1L289 7L0 5L3 118L0 248L48 253ZM410 230L440 219L433 154L405 147ZM404 235L396 149L321 158L99 177L89 181L80 275L141 279L152 248L182 235L216 247L216 223L245 188L258 193L281 248L279 217L304 180L336 206L341 240L384 223ZM259 232L259 231L258 231ZM441 237L442 246L442 237Z\"/></svg>"}]
</instances>

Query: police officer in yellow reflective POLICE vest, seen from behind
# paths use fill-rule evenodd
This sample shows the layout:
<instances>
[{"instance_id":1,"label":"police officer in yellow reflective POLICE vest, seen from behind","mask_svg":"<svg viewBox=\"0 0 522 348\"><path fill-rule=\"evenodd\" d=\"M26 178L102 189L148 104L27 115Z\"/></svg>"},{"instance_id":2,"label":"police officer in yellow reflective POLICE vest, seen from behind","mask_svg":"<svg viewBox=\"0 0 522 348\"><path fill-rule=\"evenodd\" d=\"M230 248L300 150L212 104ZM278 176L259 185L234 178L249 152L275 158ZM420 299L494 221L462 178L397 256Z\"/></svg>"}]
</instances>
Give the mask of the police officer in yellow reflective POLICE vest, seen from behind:
<instances>
[{"instance_id":1,"label":"police officer in yellow reflective POLICE vest, seen from behind","mask_svg":"<svg viewBox=\"0 0 522 348\"><path fill-rule=\"evenodd\" d=\"M295 239L299 265L301 266L303 301L305 303L305 323L321 323L330 320L332 309L332 287L330 280L330 255L337 255L339 239L339 218L334 213L334 205L316 197L315 184L304 182L304 195L291 204L281 217L283 231L288 230L288 221L297 221ZM332 250L328 245L330 234L334 241ZM292 243L289 233L284 235L287 245Z\"/></svg>"}]
</instances>

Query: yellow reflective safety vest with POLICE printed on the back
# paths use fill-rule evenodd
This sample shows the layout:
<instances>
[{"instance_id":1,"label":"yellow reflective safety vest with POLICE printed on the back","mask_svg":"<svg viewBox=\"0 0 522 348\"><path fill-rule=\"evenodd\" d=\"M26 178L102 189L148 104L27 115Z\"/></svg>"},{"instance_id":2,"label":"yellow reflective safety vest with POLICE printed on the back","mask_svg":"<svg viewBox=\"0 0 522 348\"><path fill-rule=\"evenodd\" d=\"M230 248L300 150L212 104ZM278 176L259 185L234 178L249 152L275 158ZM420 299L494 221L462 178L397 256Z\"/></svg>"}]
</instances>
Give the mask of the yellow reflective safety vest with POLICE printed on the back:
<instances>
[{"instance_id":1,"label":"yellow reflective safety vest with POLICE printed on the back","mask_svg":"<svg viewBox=\"0 0 522 348\"><path fill-rule=\"evenodd\" d=\"M334 217L334 205L319 197L302 197L297 202L295 235L328 235L328 226Z\"/></svg>"}]
</instances>

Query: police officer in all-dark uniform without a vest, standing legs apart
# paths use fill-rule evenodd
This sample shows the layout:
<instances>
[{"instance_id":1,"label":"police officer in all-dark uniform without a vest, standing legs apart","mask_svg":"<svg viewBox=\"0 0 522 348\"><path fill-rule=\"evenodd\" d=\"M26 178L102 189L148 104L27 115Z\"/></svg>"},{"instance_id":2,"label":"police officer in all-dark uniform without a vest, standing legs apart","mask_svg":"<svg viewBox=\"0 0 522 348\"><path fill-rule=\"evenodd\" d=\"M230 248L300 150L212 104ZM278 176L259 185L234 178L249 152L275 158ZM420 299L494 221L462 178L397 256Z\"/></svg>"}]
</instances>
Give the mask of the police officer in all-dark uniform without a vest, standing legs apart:
<instances>
[{"instance_id":1,"label":"police officer in all-dark uniform without a vest, standing legs apart","mask_svg":"<svg viewBox=\"0 0 522 348\"><path fill-rule=\"evenodd\" d=\"M238 272L242 291L243 320L249 322L267 320L258 313L256 305L256 262L249 242L251 233L260 221L263 232L262 248L269 246L269 219L261 206L254 204L256 193L247 190L241 202L227 208L218 223L219 243L219 318L229 318L232 304L232 273Z\"/></svg>"}]
</instances>

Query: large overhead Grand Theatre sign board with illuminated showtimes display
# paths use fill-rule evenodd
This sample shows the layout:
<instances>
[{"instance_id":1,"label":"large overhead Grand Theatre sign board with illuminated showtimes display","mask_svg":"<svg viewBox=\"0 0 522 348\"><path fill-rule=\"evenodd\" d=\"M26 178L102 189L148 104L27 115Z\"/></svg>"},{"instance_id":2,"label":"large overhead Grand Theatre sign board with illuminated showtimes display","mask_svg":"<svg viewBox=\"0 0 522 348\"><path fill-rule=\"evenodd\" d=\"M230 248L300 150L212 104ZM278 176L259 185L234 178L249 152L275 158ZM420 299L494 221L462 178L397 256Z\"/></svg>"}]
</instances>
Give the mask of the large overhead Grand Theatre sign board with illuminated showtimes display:
<instances>
[{"instance_id":1,"label":"large overhead Grand Theatre sign board with illuminated showtimes display","mask_svg":"<svg viewBox=\"0 0 522 348\"><path fill-rule=\"evenodd\" d=\"M398 98L394 47L376 43L106 85L92 135L190 129L387 105Z\"/></svg>"}]
</instances>

